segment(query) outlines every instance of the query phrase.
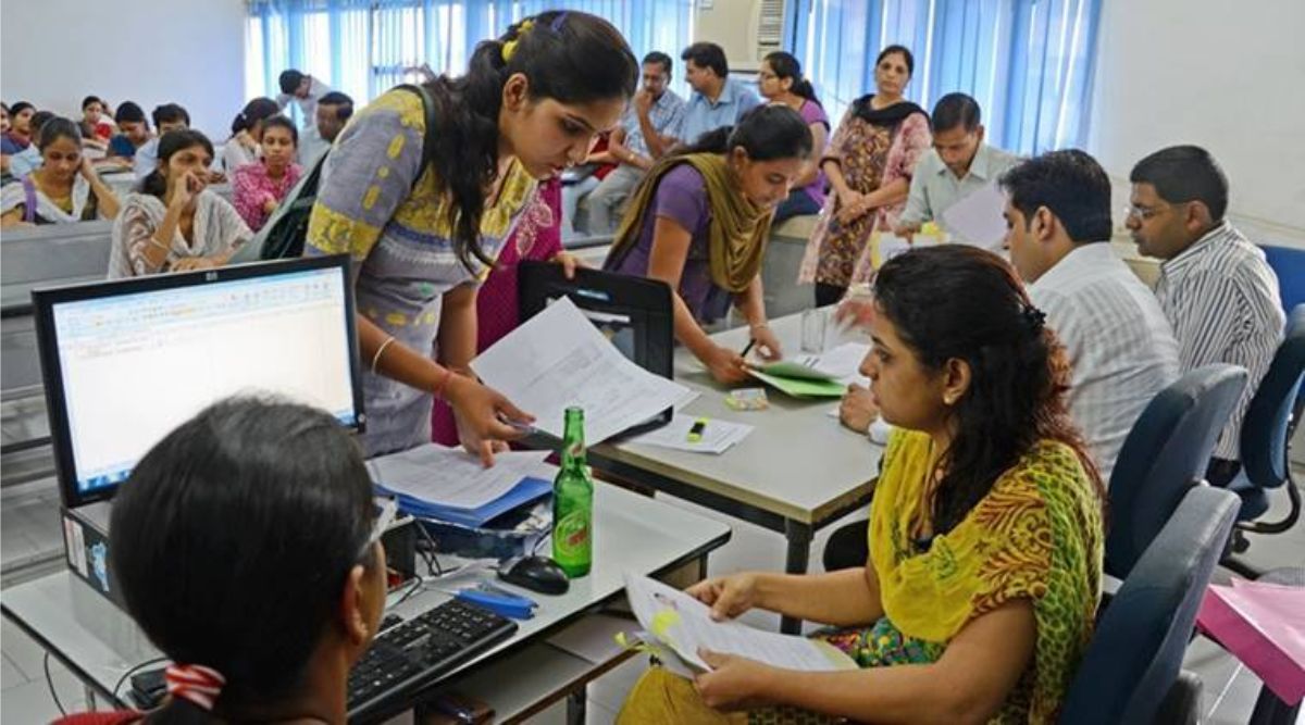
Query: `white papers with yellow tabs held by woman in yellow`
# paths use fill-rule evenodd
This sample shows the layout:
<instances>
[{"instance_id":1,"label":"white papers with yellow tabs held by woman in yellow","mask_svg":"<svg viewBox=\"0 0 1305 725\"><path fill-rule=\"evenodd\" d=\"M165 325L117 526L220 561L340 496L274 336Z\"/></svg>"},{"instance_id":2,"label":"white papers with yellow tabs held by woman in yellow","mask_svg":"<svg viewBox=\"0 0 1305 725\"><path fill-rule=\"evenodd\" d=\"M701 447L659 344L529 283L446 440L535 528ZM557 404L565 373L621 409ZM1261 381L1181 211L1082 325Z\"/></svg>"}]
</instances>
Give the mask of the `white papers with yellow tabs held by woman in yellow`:
<instances>
[{"instance_id":1,"label":"white papers with yellow tabs held by woman in yellow","mask_svg":"<svg viewBox=\"0 0 1305 725\"><path fill-rule=\"evenodd\" d=\"M671 672L692 677L711 668L698 649L737 655L776 668L803 672L856 669L856 662L837 647L799 635L757 630L735 621L711 619L711 609L689 595L625 572L625 593L646 640L660 651Z\"/></svg>"}]
</instances>

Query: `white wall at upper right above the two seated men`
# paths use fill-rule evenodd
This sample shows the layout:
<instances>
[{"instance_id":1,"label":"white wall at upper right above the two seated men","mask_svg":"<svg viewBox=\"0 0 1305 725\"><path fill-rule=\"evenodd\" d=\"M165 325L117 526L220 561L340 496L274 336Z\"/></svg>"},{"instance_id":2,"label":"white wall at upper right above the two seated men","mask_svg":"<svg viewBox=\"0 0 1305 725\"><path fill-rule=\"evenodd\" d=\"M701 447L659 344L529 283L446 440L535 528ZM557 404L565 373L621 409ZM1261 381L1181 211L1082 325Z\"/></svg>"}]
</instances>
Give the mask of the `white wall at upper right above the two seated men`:
<instances>
[{"instance_id":1,"label":"white wall at upper right above the two seated men","mask_svg":"<svg viewBox=\"0 0 1305 725\"><path fill-rule=\"evenodd\" d=\"M1305 1L1104 0L1088 151L1210 150L1254 241L1305 246Z\"/></svg>"}]
</instances>

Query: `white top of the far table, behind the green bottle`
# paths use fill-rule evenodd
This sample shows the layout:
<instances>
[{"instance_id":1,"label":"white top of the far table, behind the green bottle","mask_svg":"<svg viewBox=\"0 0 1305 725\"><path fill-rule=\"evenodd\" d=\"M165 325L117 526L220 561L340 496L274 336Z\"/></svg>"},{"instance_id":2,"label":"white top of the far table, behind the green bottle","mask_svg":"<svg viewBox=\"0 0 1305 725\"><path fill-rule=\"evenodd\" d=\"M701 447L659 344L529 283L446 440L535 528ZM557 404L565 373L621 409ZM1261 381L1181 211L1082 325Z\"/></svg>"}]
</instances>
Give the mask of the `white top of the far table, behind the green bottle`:
<instances>
[{"instance_id":1,"label":"white top of the far table, behind the green bottle","mask_svg":"<svg viewBox=\"0 0 1305 725\"><path fill-rule=\"evenodd\" d=\"M800 314L770 326L786 355L800 353ZM748 330L718 333L713 339L743 349ZM864 496L878 473L883 449L829 415L838 399L790 398L754 381L748 386L766 387L770 408L732 411L724 403L727 389L684 347L675 351L675 379L701 392L676 415L746 422L756 429L722 455L628 442L595 446L595 452L806 524L823 523Z\"/></svg>"}]
</instances>

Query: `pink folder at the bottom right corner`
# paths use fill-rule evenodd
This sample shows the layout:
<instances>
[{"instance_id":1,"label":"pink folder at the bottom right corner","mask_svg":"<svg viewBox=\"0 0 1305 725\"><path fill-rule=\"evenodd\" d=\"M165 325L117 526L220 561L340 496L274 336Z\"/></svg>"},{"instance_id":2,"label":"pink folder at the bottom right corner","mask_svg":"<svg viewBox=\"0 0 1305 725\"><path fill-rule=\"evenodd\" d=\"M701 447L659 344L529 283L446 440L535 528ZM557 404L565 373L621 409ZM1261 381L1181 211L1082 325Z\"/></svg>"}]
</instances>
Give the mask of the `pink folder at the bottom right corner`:
<instances>
[{"instance_id":1,"label":"pink folder at the bottom right corner","mask_svg":"<svg viewBox=\"0 0 1305 725\"><path fill-rule=\"evenodd\" d=\"M1305 698L1305 587L1242 579L1211 584L1197 626L1288 705Z\"/></svg>"}]
</instances>

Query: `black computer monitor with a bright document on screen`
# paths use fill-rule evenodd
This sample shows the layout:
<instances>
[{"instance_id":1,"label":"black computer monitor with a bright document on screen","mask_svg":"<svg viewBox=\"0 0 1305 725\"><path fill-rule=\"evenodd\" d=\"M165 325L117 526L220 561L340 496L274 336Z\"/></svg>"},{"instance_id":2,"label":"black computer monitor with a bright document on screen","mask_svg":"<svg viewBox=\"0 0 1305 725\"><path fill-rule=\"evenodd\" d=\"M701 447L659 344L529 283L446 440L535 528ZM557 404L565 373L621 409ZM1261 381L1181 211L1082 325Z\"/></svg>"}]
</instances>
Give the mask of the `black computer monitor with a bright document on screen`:
<instances>
[{"instance_id":1,"label":"black computer monitor with a bright document on screen","mask_svg":"<svg viewBox=\"0 0 1305 725\"><path fill-rule=\"evenodd\" d=\"M64 506L112 497L209 404L273 394L365 424L347 254L31 293Z\"/></svg>"}]
</instances>

